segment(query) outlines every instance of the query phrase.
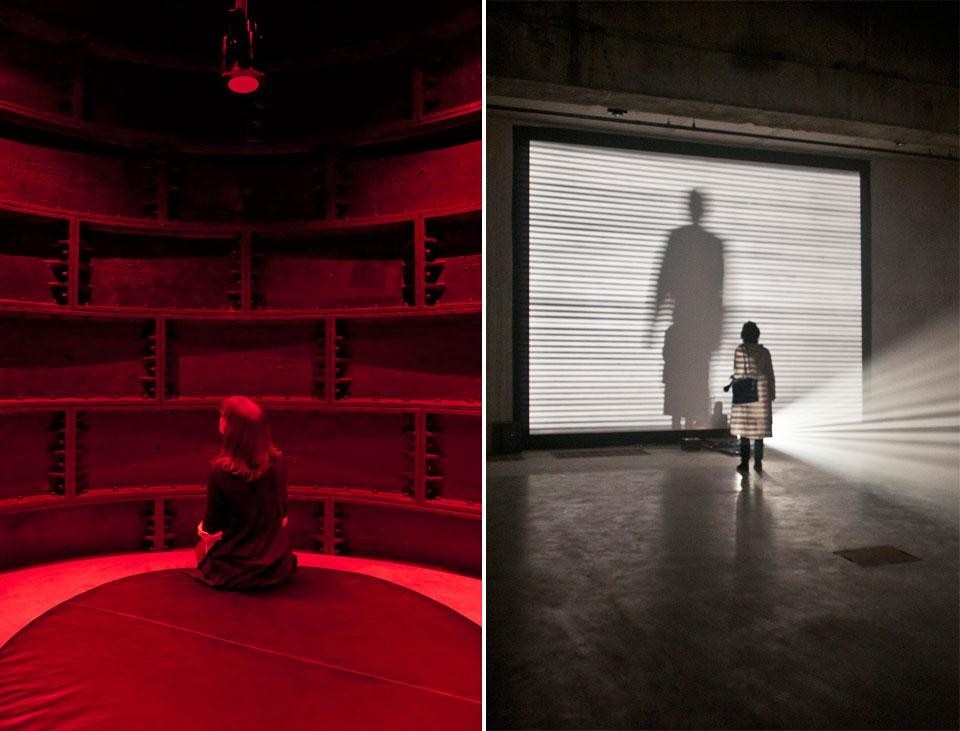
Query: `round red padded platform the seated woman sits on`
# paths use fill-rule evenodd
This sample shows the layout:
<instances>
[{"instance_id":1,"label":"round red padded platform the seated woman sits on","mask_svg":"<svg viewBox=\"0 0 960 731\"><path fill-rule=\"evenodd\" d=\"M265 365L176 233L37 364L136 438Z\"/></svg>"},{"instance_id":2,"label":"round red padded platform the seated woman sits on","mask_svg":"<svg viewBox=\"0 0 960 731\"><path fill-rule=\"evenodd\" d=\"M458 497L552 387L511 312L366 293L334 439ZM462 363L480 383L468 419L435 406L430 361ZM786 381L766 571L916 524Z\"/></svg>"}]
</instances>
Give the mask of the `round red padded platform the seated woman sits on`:
<instances>
[{"instance_id":1,"label":"round red padded platform the seated woman sits on","mask_svg":"<svg viewBox=\"0 0 960 731\"><path fill-rule=\"evenodd\" d=\"M409 589L301 568L209 589L184 570L60 604L0 650L0 728L477 729L480 627Z\"/></svg>"}]
</instances>

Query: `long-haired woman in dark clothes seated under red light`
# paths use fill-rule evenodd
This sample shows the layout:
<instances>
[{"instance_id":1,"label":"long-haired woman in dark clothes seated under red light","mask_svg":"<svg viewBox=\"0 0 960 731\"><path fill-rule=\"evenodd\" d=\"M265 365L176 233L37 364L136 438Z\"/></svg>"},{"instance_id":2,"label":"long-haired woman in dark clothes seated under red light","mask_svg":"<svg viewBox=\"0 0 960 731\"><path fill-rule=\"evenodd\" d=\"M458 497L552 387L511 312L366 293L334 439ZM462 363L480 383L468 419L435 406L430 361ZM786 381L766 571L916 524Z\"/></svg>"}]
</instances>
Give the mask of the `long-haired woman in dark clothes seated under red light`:
<instances>
[{"instance_id":1,"label":"long-haired woman in dark clothes seated under red light","mask_svg":"<svg viewBox=\"0 0 960 731\"><path fill-rule=\"evenodd\" d=\"M220 433L197 527L197 578L220 589L277 586L297 568L286 532L286 466L263 409L250 399L223 402Z\"/></svg>"}]
</instances>

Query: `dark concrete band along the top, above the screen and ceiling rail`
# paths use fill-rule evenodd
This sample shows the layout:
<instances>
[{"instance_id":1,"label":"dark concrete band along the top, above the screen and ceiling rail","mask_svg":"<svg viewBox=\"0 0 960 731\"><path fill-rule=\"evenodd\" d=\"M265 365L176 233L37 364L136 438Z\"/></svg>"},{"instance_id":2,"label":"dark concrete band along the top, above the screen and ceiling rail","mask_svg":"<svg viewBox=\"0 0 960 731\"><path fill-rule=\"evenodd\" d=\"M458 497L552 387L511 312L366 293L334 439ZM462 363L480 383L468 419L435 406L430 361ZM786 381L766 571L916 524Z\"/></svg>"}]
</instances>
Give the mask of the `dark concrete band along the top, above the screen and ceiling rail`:
<instances>
[{"instance_id":1,"label":"dark concrete band along the top, above the screen and ceiling rail","mask_svg":"<svg viewBox=\"0 0 960 731\"><path fill-rule=\"evenodd\" d=\"M488 91L950 146L957 26L957 3L491 0Z\"/></svg>"}]
</instances>

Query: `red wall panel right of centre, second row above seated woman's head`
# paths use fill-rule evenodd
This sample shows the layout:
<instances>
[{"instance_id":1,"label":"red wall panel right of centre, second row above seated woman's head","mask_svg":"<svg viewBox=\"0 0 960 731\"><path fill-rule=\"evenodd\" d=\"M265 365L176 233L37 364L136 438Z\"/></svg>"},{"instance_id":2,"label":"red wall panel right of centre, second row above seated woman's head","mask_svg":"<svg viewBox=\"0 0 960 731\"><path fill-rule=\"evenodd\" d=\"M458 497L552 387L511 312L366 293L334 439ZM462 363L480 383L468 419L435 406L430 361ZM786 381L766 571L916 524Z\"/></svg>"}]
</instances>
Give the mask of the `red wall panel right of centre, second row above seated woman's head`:
<instances>
[{"instance_id":1,"label":"red wall panel right of centre, second row above seated woman's head","mask_svg":"<svg viewBox=\"0 0 960 731\"><path fill-rule=\"evenodd\" d=\"M270 308L404 304L405 267L413 263L409 224L307 238L257 237L259 293Z\"/></svg>"}]
</instances>

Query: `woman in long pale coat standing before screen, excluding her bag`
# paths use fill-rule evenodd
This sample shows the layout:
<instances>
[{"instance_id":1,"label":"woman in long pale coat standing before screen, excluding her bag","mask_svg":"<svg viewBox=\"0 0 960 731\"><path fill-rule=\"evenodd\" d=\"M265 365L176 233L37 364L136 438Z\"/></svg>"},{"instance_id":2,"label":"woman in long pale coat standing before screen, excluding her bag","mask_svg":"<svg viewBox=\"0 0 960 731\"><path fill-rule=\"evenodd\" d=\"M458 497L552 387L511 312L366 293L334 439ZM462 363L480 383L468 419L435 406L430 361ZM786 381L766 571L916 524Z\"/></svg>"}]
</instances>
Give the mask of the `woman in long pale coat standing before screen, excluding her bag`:
<instances>
[{"instance_id":1,"label":"woman in long pale coat standing before screen, excluding her bag","mask_svg":"<svg viewBox=\"0 0 960 731\"><path fill-rule=\"evenodd\" d=\"M747 322L740 331L743 344L733 354L733 377L756 378L757 400L734 404L730 415L730 433L740 437L740 464L738 472L750 468L750 440L753 440L754 466L763 469L763 438L773 436L773 401L777 398L770 351L759 344L760 328Z\"/></svg>"}]
</instances>

